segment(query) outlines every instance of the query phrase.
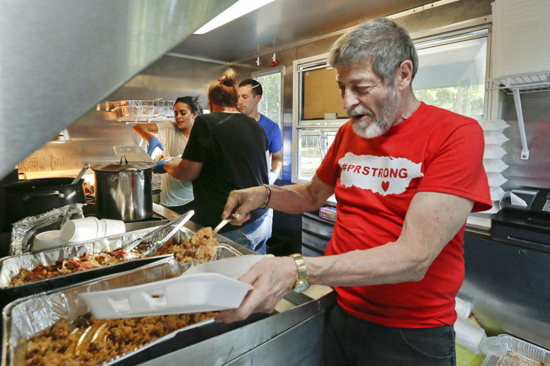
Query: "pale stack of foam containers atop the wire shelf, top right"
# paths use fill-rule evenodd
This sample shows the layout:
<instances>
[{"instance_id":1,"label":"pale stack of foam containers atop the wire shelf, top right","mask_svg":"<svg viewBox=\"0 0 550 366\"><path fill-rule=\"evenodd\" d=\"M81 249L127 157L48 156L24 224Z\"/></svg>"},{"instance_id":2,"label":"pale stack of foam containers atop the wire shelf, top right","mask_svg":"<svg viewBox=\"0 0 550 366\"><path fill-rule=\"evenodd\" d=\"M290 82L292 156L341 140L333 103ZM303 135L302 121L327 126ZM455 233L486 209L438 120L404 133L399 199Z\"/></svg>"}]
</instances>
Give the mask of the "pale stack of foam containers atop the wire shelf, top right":
<instances>
[{"instance_id":1,"label":"pale stack of foam containers atop the wire shelf, top right","mask_svg":"<svg viewBox=\"0 0 550 366\"><path fill-rule=\"evenodd\" d=\"M494 78L550 71L550 1L492 3Z\"/></svg>"}]
</instances>

